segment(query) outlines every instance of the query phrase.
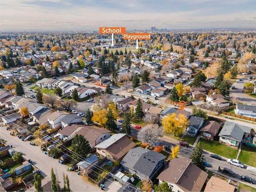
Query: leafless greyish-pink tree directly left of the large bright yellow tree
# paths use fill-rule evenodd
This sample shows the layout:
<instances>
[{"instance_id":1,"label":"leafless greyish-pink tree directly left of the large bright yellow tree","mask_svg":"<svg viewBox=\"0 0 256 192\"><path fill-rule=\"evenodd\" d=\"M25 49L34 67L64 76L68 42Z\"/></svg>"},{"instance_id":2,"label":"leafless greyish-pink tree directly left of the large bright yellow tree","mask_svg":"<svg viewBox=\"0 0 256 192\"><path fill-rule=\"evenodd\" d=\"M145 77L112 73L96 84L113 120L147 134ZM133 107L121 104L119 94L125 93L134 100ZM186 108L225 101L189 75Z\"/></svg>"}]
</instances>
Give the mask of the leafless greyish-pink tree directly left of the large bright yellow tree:
<instances>
[{"instance_id":1,"label":"leafless greyish-pink tree directly left of the large bright yellow tree","mask_svg":"<svg viewBox=\"0 0 256 192\"><path fill-rule=\"evenodd\" d=\"M159 127L157 124L147 124L138 133L138 139L150 146L153 146L158 141L158 137L162 136L162 127Z\"/></svg>"}]
</instances>

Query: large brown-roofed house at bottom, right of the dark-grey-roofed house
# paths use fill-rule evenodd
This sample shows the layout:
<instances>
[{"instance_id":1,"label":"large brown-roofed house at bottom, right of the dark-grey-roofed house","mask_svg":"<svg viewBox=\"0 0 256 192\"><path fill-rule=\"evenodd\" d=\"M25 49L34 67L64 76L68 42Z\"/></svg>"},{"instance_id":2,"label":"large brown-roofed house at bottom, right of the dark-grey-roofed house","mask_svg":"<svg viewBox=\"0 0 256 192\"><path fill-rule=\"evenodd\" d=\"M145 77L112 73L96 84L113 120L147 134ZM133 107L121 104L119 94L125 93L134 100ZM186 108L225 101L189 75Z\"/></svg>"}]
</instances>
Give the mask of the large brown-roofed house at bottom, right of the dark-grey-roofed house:
<instances>
[{"instance_id":1,"label":"large brown-roofed house at bottom, right of the dark-grey-roofed house","mask_svg":"<svg viewBox=\"0 0 256 192\"><path fill-rule=\"evenodd\" d=\"M173 191L201 191L208 174L188 158L170 161L157 177L159 183L166 182Z\"/></svg>"}]
</instances>

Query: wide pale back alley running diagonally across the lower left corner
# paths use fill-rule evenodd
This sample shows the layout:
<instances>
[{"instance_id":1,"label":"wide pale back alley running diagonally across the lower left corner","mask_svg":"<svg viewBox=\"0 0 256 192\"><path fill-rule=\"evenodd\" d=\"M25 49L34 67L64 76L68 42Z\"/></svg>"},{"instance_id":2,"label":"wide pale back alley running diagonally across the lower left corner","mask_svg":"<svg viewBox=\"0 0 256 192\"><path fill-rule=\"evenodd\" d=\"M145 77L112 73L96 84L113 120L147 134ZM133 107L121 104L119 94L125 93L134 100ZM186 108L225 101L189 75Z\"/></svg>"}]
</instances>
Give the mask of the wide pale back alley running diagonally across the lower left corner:
<instances>
[{"instance_id":1,"label":"wide pale back alley running diagonally across the lower left corner","mask_svg":"<svg viewBox=\"0 0 256 192\"><path fill-rule=\"evenodd\" d=\"M14 150L22 151L26 159L31 159L34 165L42 171L44 177L51 177L51 167L57 173L60 186L63 186L63 176L65 173L69 176L70 188L72 191L99 191L100 189L89 183L84 182L81 176L78 176L76 172L68 172L67 165L62 165L58 163L57 159L53 159L47 155L44 155L40 147L31 146L29 142L22 141L15 136L10 135L10 131L7 131L5 127L0 126L0 136L1 138L7 140L7 144L12 145Z\"/></svg>"}]
</instances>

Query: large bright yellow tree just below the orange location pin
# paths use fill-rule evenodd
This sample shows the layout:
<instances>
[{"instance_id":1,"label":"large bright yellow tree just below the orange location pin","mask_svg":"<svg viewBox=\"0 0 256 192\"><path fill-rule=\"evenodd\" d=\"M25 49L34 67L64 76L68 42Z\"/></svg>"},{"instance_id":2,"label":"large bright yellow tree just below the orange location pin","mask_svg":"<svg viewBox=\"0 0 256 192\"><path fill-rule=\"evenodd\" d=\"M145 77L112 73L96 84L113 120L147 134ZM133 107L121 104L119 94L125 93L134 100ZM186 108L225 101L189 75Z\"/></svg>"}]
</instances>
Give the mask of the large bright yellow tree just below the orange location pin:
<instances>
[{"instance_id":1,"label":"large bright yellow tree just below the orange location pin","mask_svg":"<svg viewBox=\"0 0 256 192\"><path fill-rule=\"evenodd\" d=\"M187 124L188 120L183 114L177 116L173 113L162 118L162 125L166 134L180 135L185 130Z\"/></svg>"}]
</instances>

